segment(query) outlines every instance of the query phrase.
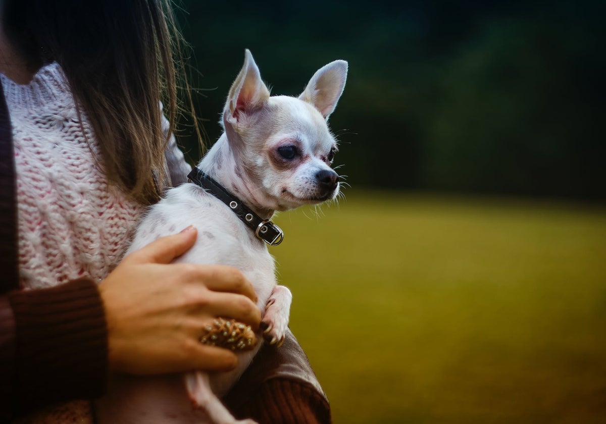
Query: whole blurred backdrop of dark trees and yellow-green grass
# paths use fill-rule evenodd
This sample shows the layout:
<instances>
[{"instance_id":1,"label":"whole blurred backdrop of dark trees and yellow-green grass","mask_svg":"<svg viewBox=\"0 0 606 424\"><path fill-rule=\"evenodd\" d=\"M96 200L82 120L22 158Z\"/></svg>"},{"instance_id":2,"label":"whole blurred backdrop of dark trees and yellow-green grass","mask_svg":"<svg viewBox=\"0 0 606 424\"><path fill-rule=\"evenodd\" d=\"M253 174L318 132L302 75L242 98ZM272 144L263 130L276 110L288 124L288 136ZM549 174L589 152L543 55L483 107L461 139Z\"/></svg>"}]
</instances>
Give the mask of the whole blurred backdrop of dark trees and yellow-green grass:
<instances>
[{"instance_id":1,"label":"whole blurred backdrop of dark trees and yellow-green grass","mask_svg":"<svg viewBox=\"0 0 606 424\"><path fill-rule=\"evenodd\" d=\"M353 189L271 250L335 423L604 423L606 2L183 3L207 145L244 48L349 62Z\"/></svg>"}]
</instances>

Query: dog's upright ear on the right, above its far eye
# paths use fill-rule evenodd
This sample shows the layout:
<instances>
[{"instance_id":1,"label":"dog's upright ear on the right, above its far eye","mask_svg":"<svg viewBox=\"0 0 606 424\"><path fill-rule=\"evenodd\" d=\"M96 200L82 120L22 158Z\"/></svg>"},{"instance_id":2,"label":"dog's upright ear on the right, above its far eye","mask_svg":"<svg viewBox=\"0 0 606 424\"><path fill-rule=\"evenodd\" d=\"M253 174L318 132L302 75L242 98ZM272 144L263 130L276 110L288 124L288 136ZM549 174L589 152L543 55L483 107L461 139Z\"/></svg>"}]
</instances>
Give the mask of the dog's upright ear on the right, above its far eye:
<instances>
[{"instance_id":1,"label":"dog's upright ear on the right, above its far eye","mask_svg":"<svg viewBox=\"0 0 606 424\"><path fill-rule=\"evenodd\" d=\"M316 71L299 99L314 105L328 119L343 94L346 79L347 62L330 62Z\"/></svg>"}]
</instances>

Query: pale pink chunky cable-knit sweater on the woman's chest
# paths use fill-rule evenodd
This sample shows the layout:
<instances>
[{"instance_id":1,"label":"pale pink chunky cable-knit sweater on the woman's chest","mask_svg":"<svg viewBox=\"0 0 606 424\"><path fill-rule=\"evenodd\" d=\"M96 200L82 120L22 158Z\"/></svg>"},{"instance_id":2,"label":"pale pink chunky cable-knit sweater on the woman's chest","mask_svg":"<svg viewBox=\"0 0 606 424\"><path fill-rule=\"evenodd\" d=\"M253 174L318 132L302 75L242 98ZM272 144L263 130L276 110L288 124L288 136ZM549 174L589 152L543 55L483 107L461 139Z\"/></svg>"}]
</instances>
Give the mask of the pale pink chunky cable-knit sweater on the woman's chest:
<instances>
[{"instance_id":1,"label":"pale pink chunky cable-knit sweater on the woman's chest","mask_svg":"<svg viewBox=\"0 0 606 424\"><path fill-rule=\"evenodd\" d=\"M142 206L107 184L95 136L84 113L79 122L58 64L27 85L0 79L13 124L21 287L104 279L128 247ZM190 167L174 137L166 156L173 184L185 182Z\"/></svg>"}]
</instances>

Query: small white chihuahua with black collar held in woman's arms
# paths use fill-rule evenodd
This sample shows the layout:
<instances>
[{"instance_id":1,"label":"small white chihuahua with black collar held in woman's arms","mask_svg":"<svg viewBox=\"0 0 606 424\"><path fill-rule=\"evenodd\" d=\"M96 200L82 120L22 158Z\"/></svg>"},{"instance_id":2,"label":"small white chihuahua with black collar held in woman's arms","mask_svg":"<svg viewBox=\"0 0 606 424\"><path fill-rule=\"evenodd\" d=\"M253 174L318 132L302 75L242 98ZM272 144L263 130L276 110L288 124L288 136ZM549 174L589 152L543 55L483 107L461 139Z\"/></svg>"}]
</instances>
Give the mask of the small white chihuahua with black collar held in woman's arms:
<instances>
[{"instance_id":1,"label":"small white chihuahua with black collar held in woman's arms","mask_svg":"<svg viewBox=\"0 0 606 424\"><path fill-rule=\"evenodd\" d=\"M346 78L347 62L335 61L316 71L298 98L270 97L246 50L244 66L225 103L225 132L190 174L196 184L168 190L151 207L129 253L195 225L198 240L175 262L239 268L253 283L258 306L265 311L265 338L279 345L292 296L287 288L276 285L274 260L266 244L278 244L283 234L269 219L275 211L318 204L339 193L338 175L331 169L337 145L327 119ZM99 422L253 423L236 421L219 399L260 347L261 342L238 353L239 365L233 371L189 373L185 384L176 376L120 377L96 403Z\"/></svg>"}]
</instances>

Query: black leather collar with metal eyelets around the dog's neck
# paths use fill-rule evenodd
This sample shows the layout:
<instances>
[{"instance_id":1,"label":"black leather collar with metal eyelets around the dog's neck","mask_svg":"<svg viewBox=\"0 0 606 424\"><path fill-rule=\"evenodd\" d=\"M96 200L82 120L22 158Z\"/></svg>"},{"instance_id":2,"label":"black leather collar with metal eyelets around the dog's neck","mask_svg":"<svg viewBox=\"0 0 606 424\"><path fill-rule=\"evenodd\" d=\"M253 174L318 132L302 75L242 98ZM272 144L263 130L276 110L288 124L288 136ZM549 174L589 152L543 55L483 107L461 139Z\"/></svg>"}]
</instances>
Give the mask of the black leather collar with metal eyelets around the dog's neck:
<instances>
[{"instance_id":1,"label":"black leather collar with metal eyelets around the dog's neck","mask_svg":"<svg viewBox=\"0 0 606 424\"><path fill-rule=\"evenodd\" d=\"M268 219L262 219L253 212L242 200L231 194L225 187L209 177L204 171L194 167L187 176L191 182L205 188L221 200L236 214L244 224L255 232L255 236L271 246L277 246L284 240L284 233L278 225Z\"/></svg>"}]
</instances>

